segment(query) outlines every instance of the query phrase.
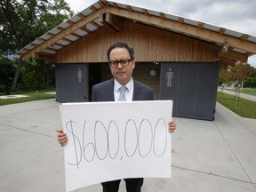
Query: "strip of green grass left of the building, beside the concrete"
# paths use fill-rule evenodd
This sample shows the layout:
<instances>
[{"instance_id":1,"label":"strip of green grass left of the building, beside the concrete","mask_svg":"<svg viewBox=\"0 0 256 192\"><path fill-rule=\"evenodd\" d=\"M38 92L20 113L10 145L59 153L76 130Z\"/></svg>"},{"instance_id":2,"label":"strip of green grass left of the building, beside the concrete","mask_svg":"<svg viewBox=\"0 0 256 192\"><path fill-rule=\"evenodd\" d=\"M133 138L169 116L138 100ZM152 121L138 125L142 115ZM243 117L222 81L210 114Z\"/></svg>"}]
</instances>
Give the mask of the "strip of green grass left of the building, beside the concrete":
<instances>
[{"instance_id":1,"label":"strip of green grass left of the building, beside the concrete","mask_svg":"<svg viewBox=\"0 0 256 192\"><path fill-rule=\"evenodd\" d=\"M0 106L10 105L14 103L28 102L32 100L48 100L56 98L56 94L47 94L45 92L53 92L53 91L44 91L44 92L15 92L12 94L24 94L29 97L26 98L10 98L10 99L0 99Z\"/></svg>"}]
</instances>

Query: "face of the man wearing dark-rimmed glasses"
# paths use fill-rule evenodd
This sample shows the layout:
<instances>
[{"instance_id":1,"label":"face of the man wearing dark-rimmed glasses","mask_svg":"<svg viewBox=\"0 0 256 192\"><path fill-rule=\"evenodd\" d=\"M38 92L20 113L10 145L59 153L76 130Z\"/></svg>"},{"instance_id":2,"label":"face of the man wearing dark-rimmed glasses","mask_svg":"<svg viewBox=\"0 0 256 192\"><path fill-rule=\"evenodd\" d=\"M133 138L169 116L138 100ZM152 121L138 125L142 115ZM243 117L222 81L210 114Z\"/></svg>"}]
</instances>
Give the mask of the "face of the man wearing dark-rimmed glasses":
<instances>
[{"instance_id":1,"label":"face of the man wearing dark-rimmed glasses","mask_svg":"<svg viewBox=\"0 0 256 192\"><path fill-rule=\"evenodd\" d=\"M116 47L109 54L109 61L112 60L131 60L131 57L127 49ZM133 68L135 68L134 60L130 61L125 67L121 63L116 68L110 66L112 76L122 85L127 84L132 79Z\"/></svg>"}]
</instances>

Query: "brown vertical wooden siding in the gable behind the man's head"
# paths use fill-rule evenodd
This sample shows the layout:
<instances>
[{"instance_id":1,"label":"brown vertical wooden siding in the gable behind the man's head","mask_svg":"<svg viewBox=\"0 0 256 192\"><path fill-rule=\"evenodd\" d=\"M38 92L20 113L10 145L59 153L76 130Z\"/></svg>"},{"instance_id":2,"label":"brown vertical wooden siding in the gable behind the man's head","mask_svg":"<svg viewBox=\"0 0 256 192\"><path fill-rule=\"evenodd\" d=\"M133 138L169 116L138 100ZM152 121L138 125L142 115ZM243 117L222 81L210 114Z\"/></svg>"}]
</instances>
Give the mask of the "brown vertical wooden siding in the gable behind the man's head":
<instances>
[{"instance_id":1,"label":"brown vertical wooden siding in the gable behind the man's head","mask_svg":"<svg viewBox=\"0 0 256 192\"><path fill-rule=\"evenodd\" d=\"M61 49L57 53L56 61L58 63L107 62L108 46L116 41L132 44L135 60L140 62L213 62L218 58L217 45L124 20L122 32L102 27Z\"/></svg>"}]
</instances>

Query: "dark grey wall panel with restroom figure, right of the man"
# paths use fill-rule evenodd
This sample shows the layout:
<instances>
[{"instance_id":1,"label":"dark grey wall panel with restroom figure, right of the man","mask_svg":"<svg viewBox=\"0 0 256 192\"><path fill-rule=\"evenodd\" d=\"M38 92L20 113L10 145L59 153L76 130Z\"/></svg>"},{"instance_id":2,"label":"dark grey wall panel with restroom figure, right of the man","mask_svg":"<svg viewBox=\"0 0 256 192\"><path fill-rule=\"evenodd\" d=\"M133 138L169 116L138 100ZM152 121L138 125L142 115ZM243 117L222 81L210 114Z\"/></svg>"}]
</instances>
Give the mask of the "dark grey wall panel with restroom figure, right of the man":
<instances>
[{"instance_id":1,"label":"dark grey wall panel with restroom figure, right of the man","mask_svg":"<svg viewBox=\"0 0 256 192\"><path fill-rule=\"evenodd\" d=\"M220 63L163 63L160 99L173 100L173 116L213 120Z\"/></svg>"}]
</instances>

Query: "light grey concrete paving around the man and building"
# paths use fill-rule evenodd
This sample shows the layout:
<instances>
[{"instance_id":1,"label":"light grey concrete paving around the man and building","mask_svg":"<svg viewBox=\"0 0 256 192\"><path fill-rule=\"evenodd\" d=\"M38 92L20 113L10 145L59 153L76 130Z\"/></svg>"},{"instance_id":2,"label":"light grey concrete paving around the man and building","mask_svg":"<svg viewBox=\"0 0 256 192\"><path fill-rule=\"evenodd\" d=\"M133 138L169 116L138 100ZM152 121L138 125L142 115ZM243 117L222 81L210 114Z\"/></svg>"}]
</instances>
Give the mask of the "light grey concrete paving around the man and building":
<instances>
[{"instance_id":1,"label":"light grey concrete paving around the man and building","mask_svg":"<svg viewBox=\"0 0 256 192\"><path fill-rule=\"evenodd\" d=\"M59 105L38 100L0 107L0 191L65 191L55 132ZM256 192L256 120L218 103L215 121L174 119L172 179L145 179L142 192ZM76 191L102 190L97 184Z\"/></svg>"}]
</instances>

